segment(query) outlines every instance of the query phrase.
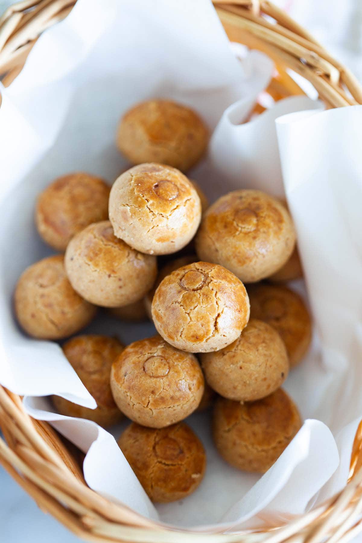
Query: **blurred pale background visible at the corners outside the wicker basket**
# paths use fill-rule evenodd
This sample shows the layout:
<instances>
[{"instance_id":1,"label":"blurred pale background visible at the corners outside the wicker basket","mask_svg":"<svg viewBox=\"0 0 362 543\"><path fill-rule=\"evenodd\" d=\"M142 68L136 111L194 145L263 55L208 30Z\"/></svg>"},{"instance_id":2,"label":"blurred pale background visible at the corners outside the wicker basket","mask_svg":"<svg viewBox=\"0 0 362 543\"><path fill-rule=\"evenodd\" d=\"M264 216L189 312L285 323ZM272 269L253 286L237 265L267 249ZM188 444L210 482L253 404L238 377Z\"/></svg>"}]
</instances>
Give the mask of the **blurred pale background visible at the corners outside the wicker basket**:
<instances>
[{"instance_id":1,"label":"blurred pale background visible at the corners outside the wicker basket","mask_svg":"<svg viewBox=\"0 0 362 543\"><path fill-rule=\"evenodd\" d=\"M175 1L175 0L174 0ZM0 0L0 15L13 2ZM306 27L331 54L362 81L361 0L274 0ZM79 542L0 468L0 541L6 543ZM358 538L362 542L362 536Z\"/></svg>"}]
</instances>

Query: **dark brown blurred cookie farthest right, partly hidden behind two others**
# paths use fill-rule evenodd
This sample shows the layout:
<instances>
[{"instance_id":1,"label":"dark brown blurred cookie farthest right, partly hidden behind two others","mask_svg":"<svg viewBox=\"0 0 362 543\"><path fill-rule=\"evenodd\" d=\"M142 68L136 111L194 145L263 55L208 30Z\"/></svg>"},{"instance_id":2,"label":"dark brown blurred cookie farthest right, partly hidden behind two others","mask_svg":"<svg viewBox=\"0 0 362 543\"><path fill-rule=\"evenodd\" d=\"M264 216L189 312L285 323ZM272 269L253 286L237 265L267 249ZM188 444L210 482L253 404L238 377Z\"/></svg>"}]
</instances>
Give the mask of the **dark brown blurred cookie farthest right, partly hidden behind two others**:
<instances>
[{"instance_id":1,"label":"dark brown blurred cookie farthest right, partly hidden behind two others","mask_svg":"<svg viewBox=\"0 0 362 543\"><path fill-rule=\"evenodd\" d=\"M301 362L312 340L312 321L299 294L276 285L250 285L251 317L264 320L280 333L293 368Z\"/></svg>"}]
</instances>

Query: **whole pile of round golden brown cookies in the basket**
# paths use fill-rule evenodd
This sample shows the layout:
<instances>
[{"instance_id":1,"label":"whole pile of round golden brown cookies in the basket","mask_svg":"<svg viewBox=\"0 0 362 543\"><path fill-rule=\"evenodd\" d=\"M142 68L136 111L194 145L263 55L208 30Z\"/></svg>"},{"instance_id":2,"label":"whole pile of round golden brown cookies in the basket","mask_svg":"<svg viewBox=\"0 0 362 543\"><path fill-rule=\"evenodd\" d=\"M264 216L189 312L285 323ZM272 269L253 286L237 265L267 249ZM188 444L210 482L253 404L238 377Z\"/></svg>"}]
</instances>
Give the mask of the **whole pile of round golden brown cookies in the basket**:
<instances>
[{"instance_id":1,"label":"whole pile of round golden brown cookies in the basket","mask_svg":"<svg viewBox=\"0 0 362 543\"><path fill-rule=\"evenodd\" d=\"M301 276L293 222L285 203L257 190L208 207L182 173L207 143L183 105L128 111L117 146L133 166L111 189L73 173L39 195L37 230L61 254L26 269L14 296L29 336L73 336L63 352L97 402L54 396L55 408L105 427L128 417L118 444L156 502L189 495L204 476L204 447L183 422L194 411L212 407L215 446L246 471L268 470L301 427L281 389L311 338L307 308L285 286ZM158 333L127 346L74 336L99 307L134 326L149 318Z\"/></svg>"}]
</instances>

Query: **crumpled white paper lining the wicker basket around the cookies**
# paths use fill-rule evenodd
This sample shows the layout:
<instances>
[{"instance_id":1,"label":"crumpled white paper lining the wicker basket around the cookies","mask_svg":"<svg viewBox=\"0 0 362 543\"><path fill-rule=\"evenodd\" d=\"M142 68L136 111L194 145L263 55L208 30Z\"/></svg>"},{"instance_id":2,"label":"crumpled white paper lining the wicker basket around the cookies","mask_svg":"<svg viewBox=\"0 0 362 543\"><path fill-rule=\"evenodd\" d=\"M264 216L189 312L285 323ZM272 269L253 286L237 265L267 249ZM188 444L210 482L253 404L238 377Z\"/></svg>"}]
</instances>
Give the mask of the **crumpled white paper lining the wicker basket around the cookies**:
<instances>
[{"instance_id":1,"label":"crumpled white paper lining the wicker basket around the cookies","mask_svg":"<svg viewBox=\"0 0 362 543\"><path fill-rule=\"evenodd\" d=\"M51 421L88 451L84 474L91 488L155 520L200 531L215 523L234 531L278 522L331 496L346 483L362 418L362 110L321 112L319 103L295 97L239 124L271 73L260 53L242 63L235 58L207 0L78 0L64 22L41 36L20 76L2 92L0 382L27 395L32 416ZM74 170L112 182L126 166L114 144L118 119L154 96L189 104L210 129L217 127L207 160L191 173L209 197L238 187L282 195L283 171L315 321L312 349L285 383L306 421L276 464L263 477L234 470L212 445L209 413L193 414L188 422L207 449L205 479L182 502L156 507L110 433L52 413L48 394L87 407L94 400L59 346L23 336L11 314L18 276L50 254L34 228L36 195ZM294 113L302 110L308 112ZM302 281L294 287L306 293ZM86 332L117 334L130 343L154 329L102 314ZM114 429L115 437L126 424Z\"/></svg>"}]
</instances>

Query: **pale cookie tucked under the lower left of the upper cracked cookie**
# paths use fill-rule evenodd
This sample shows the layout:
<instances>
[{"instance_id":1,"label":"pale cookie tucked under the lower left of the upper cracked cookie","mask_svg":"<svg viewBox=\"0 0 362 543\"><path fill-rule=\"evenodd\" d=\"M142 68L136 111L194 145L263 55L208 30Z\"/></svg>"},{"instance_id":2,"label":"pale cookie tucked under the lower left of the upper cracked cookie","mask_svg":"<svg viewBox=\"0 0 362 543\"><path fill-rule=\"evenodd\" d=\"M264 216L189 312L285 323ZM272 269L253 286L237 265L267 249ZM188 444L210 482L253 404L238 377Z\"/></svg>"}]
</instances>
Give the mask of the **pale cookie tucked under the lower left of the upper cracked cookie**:
<instances>
[{"instance_id":1,"label":"pale cookie tucked under the lower left of the upper cracked cookie","mask_svg":"<svg viewBox=\"0 0 362 543\"><path fill-rule=\"evenodd\" d=\"M156 258L116 238L109 220L90 224L71 239L65 266L73 288L104 307L141 300L157 275Z\"/></svg>"}]
</instances>

